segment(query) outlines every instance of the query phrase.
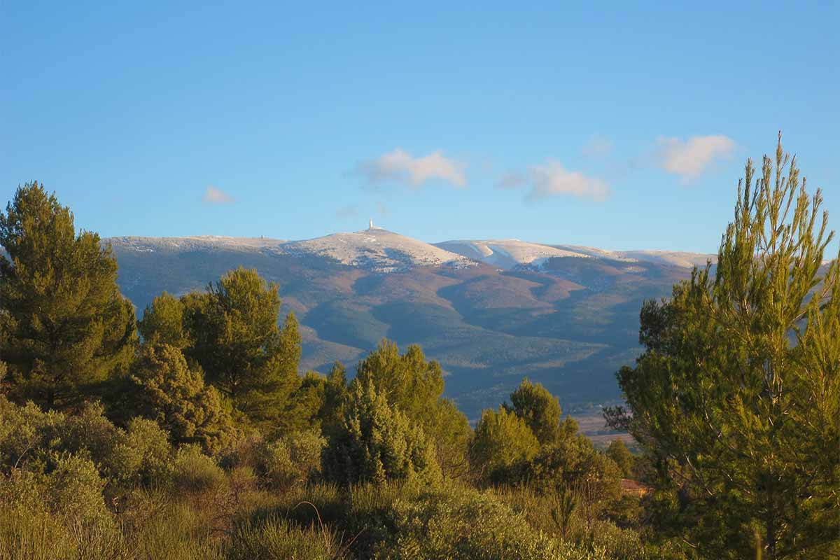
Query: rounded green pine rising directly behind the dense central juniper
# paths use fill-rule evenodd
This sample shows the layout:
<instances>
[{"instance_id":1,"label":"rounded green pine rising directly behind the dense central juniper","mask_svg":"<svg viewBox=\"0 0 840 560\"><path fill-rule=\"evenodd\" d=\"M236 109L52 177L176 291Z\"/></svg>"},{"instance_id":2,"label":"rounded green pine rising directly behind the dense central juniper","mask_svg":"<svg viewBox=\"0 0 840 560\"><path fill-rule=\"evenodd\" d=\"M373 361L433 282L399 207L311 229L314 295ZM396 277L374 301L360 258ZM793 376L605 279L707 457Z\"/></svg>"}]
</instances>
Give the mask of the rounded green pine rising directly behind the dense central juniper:
<instances>
[{"instance_id":1,"label":"rounded green pine rising directly behind the dense central juniper","mask_svg":"<svg viewBox=\"0 0 840 560\"><path fill-rule=\"evenodd\" d=\"M444 399L444 374L438 362L427 361L417 345L401 355L395 343L383 340L360 362L356 378L361 384L372 383L391 406L423 427L445 474L463 474L470 425L454 403Z\"/></svg>"}]
</instances>

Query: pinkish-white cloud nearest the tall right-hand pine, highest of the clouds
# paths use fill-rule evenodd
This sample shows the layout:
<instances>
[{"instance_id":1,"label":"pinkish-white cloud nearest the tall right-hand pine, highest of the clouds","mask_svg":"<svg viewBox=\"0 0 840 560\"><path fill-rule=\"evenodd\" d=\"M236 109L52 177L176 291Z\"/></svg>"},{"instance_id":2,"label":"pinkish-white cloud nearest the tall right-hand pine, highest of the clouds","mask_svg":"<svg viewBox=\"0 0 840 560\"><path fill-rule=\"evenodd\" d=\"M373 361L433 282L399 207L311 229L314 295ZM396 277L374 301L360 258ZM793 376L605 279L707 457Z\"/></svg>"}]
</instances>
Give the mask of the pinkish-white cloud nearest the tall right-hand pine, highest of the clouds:
<instances>
[{"instance_id":1,"label":"pinkish-white cloud nearest the tall right-hand pine, highest of the clouds","mask_svg":"<svg viewBox=\"0 0 840 560\"><path fill-rule=\"evenodd\" d=\"M680 175L687 183L696 179L715 160L732 155L735 142L727 136L692 136L685 142L675 138L659 139L659 166Z\"/></svg>"}]
</instances>

